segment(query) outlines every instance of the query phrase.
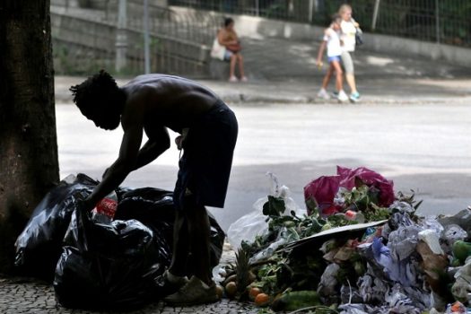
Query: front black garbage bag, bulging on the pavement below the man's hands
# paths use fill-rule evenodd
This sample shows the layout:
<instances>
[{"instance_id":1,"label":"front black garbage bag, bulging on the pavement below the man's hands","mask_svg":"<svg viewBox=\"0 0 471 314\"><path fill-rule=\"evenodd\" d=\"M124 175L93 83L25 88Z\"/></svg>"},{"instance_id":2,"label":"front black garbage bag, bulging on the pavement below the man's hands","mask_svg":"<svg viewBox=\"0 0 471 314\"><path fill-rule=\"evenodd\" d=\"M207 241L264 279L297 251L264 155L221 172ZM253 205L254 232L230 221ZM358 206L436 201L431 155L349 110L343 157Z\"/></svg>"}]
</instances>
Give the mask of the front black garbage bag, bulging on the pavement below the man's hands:
<instances>
[{"instance_id":1,"label":"front black garbage bag, bulging on the pavement below the man's hands","mask_svg":"<svg viewBox=\"0 0 471 314\"><path fill-rule=\"evenodd\" d=\"M95 222L78 208L57 262L57 301L67 308L126 310L156 300L155 278L169 264L170 252L155 243L142 222Z\"/></svg>"}]
</instances>

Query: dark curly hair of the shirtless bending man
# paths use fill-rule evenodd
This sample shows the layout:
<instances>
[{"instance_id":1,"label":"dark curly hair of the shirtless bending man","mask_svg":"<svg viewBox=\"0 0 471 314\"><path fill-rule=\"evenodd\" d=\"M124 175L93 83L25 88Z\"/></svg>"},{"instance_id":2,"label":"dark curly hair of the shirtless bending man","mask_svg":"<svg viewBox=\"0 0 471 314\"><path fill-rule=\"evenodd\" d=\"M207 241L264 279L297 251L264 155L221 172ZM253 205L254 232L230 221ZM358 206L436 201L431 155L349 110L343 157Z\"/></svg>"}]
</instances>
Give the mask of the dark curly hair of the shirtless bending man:
<instances>
[{"instance_id":1,"label":"dark curly hair of the shirtless bending man","mask_svg":"<svg viewBox=\"0 0 471 314\"><path fill-rule=\"evenodd\" d=\"M116 111L122 97L115 79L105 70L100 70L100 73L94 74L83 83L72 86L70 91L74 96L75 105L87 118L104 114L109 109Z\"/></svg>"}]
</instances>

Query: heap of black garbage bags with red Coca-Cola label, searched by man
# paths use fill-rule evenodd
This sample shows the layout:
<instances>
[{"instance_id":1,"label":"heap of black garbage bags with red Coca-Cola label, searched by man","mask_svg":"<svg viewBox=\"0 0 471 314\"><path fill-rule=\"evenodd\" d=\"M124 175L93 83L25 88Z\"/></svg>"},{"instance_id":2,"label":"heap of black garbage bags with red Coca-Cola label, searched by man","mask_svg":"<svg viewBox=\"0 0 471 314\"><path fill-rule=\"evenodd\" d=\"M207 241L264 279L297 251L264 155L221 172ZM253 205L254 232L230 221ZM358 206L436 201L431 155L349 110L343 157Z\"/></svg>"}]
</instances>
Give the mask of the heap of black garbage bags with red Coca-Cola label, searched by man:
<instances>
[{"instance_id":1,"label":"heap of black garbage bags with red Coca-Cola label, searched by man","mask_svg":"<svg viewBox=\"0 0 471 314\"><path fill-rule=\"evenodd\" d=\"M159 300L157 277L171 261L173 193L118 188L86 212L80 201L98 183L81 173L48 192L16 240L18 271L52 282L67 308L131 310ZM211 266L217 266L225 233L208 215Z\"/></svg>"}]
</instances>

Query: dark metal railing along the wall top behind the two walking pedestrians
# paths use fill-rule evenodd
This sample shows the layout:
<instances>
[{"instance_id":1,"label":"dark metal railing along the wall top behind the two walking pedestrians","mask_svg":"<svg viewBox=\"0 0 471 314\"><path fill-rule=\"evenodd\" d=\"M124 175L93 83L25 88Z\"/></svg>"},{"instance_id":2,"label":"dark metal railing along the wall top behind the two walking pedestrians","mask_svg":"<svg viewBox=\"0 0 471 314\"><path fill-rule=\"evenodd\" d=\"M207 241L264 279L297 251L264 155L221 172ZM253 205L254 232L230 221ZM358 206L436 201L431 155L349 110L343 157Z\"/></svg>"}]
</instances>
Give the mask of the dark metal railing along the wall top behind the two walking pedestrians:
<instances>
[{"instance_id":1,"label":"dark metal railing along the wall top behind the two walking pedestrians","mask_svg":"<svg viewBox=\"0 0 471 314\"><path fill-rule=\"evenodd\" d=\"M469 0L169 0L170 5L323 26L344 3L352 5L363 31L471 47Z\"/></svg>"}]
</instances>

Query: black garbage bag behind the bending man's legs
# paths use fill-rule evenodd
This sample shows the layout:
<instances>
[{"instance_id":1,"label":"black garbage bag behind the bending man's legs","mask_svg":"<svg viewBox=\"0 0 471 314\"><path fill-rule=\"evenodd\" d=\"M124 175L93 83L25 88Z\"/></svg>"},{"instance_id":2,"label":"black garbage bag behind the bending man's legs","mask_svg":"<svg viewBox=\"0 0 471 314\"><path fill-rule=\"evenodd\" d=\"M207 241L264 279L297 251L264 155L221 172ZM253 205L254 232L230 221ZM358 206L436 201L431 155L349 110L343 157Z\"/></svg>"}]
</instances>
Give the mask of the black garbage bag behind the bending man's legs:
<instances>
[{"instance_id":1,"label":"black garbage bag behind the bending man's legs","mask_svg":"<svg viewBox=\"0 0 471 314\"><path fill-rule=\"evenodd\" d=\"M208 212L210 222L210 265L217 266L222 256L225 233ZM115 219L136 219L151 228L159 240L158 247L170 251L173 246L173 223L175 208L173 205L173 192L160 188L136 188L128 190L121 196ZM168 249L169 248L169 249ZM191 256L188 258L188 273L193 270ZM171 259L171 256L169 257Z\"/></svg>"}]
</instances>

